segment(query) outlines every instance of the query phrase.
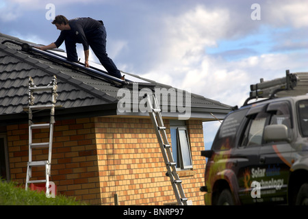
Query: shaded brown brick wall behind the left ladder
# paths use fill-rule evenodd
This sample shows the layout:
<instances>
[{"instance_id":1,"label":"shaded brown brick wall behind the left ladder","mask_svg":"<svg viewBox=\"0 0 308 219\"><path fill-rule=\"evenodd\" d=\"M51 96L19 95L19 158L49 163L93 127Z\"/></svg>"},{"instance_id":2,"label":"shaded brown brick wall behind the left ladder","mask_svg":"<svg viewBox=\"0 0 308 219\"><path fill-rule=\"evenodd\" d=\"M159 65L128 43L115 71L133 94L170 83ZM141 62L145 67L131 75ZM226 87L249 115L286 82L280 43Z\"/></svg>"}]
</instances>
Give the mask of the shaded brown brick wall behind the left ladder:
<instances>
[{"instance_id":1,"label":"shaded brown brick wall behind the left ladder","mask_svg":"<svg viewBox=\"0 0 308 219\"><path fill-rule=\"evenodd\" d=\"M49 129L34 129L34 142L47 142ZM28 161L28 125L7 127L11 180L25 183ZM47 159L47 149L34 149L33 160ZM94 122L91 118L55 123L50 180L57 193L75 196L93 205L101 203ZM44 179L44 168L33 168L32 180Z\"/></svg>"}]
</instances>

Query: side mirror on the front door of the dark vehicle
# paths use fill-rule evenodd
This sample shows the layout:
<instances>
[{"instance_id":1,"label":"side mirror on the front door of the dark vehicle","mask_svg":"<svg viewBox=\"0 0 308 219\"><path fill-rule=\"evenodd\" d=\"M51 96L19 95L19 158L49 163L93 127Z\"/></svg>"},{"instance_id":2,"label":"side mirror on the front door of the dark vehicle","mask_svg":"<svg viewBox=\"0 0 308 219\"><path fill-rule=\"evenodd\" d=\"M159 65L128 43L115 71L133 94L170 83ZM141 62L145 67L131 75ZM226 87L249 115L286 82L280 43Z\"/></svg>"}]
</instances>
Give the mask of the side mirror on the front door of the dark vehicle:
<instances>
[{"instance_id":1,"label":"side mirror on the front door of the dark vehicle","mask_svg":"<svg viewBox=\"0 0 308 219\"><path fill-rule=\"evenodd\" d=\"M267 125L264 129L266 142L290 142L289 132L286 125Z\"/></svg>"}]
</instances>

